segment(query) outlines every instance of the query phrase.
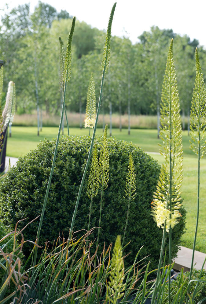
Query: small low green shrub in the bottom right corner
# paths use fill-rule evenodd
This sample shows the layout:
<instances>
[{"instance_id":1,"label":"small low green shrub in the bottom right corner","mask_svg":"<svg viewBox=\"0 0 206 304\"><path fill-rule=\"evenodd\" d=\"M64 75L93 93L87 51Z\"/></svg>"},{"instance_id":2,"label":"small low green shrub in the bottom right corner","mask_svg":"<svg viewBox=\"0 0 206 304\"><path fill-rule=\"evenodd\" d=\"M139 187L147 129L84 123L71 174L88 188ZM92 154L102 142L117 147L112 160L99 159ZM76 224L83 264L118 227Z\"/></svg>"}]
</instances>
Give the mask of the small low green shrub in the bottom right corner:
<instances>
[{"instance_id":1,"label":"small low green shrub in the bottom right corner","mask_svg":"<svg viewBox=\"0 0 206 304\"><path fill-rule=\"evenodd\" d=\"M187 279L186 279L186 277L187 277ZM173 300L174 296L176 295L176 290L178 288L178 284L183 283L183 281L185 279L186 279L186 284L183 286L182 293L186 290L186 287L188 286L188 283L189 283L189 271L184 272L184 276L182 277L181 282L180 282L180 279L181 279L181 276L180 276L180 274L178 274L177 279L171 281L171 301ZM206 270L203 269L203 272L200 276L200 270L193 269L191 280L197 280L197 279L206 280ZM190 284L190 293L189 293L190 296L194 292L196 284L197 284L197 282L195 282L195 281L193 281ZM164 304L169 303L169 300L168 299L166 300L167 296L168 296L168 284L165 285L165 288L164 288L164 299L165 299L163 302ZM200 290L197 292L197 294L194 298L193 304L197 304L200 300L204 299L205 297L206 297L206 281L201 286ZM178 303L180 303L180 300L178 301ZM185 297L183 303L186 303L186 297ZM206 300L204 300L203 303L206 303Z\"/></svg>"}]
</instances>

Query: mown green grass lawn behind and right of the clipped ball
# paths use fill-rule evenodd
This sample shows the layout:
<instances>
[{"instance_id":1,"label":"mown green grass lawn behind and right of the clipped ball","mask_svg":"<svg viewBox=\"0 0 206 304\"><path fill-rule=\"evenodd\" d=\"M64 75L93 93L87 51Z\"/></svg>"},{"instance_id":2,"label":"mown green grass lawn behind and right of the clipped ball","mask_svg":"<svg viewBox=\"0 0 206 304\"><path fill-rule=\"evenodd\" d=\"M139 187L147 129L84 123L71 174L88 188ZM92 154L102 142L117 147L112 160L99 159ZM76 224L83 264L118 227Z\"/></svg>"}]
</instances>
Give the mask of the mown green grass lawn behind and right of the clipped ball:
<instances>
[{"instance_id":1,"label":"mown green grass lawn behind and right of the clipped ball","mask_svg":"<svg viewBox=\"0 0 206 304\"><path fill-rule=\"evenodd\" d=\"M66 128L64 132L66 134ZM56 138L58 127L43 127L40 136L37 136L36 127L12 127L12 137L7 140L7 156L19 157L24 156L30 150L36 149L39 141L44 138L49 140ZM108 130L109 133L109 130ZM89 134L88 129L70 128L70 135ZM97 129L97 134L102 135L102 129ZM112 136L117 139L131 141L149 152L159 152L158 144L161 144L161 139L157 139L156 130L140 130L132 129L131 134L127 134L127 129L121 132L119 129L112 130ZM182 236L182 245L192 248L193 238L196 223L196 204L197 204L197 157L189 150L189 136L187 131L182 132L184 163L183 163L183 183L182 197L184 206L187 210L186 216L186 233ZM153 158L157 159L160 164L163 162L163 157L159 154L153 154ZM206 209L204 208L204 197L206 197L206 158L200 162L200 213L199 227L197 233L196 250L206 253L206 231L204 221L206 219Z\"/></svg>"}]
</instances>

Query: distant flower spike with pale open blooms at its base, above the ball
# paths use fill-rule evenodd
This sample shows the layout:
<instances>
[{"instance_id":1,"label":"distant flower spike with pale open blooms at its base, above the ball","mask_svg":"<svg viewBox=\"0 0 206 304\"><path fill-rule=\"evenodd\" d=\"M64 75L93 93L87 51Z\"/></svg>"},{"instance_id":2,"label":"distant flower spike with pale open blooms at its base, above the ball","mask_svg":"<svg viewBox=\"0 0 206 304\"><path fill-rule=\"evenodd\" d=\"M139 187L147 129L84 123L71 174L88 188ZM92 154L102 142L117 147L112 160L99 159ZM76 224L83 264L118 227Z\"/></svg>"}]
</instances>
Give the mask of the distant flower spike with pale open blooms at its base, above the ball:
<instances>
[{"instance_id":1,"label":"distant flower spike with pale open blooms at its base, above the ball","mask_svg":"<svg viewBox=\"0 0 206 304\"><path fill-rule=\"evenodd\" d=\"M86 102L84 127L94 128L95 118L96 118L96 93L95 93L95 83L94 83L93 73L91 73L86 100L87 102Z\"/></svg>"}]
</instances>

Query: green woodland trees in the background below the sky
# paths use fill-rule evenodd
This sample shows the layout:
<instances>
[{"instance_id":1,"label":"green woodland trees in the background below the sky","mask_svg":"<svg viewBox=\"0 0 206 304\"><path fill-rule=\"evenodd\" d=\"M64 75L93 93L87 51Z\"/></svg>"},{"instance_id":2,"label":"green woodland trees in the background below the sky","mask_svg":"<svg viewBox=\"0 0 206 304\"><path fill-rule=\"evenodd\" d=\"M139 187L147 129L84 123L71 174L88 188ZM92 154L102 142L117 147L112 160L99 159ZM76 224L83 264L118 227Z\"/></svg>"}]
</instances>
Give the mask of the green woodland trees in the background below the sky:
<instances>
[{"instance_id":1,"label":"green woodland trees in the background below the sky","mask_svg":"<svg viewBox=\"0 0 206 304\"><path fill-rule=\"evenodd\" d=\"M9 13L2 11L0 24L0 59L4 61L3 102L10 80L16 84L17 114L31 114L37 107L47 115L61 109L59 86L59 40L64 45L72 22L67 11L57 10L39 1L34 13L29 4ZM172 29L151 27L132 45L127 37L112 37L110 68L104 84L101 114L131 113L157 115L167 51L174 38L174 60L178 80L183 130L184 116L190 113L195 80L195 49L198 46L203 74L206 75L206 50L199 41L174 33ZM98 100L101 83L101 58L105 32L76 21L72 40L71 79L66 108L84 113L91 72Z\"/></svg>"}]
</instances>

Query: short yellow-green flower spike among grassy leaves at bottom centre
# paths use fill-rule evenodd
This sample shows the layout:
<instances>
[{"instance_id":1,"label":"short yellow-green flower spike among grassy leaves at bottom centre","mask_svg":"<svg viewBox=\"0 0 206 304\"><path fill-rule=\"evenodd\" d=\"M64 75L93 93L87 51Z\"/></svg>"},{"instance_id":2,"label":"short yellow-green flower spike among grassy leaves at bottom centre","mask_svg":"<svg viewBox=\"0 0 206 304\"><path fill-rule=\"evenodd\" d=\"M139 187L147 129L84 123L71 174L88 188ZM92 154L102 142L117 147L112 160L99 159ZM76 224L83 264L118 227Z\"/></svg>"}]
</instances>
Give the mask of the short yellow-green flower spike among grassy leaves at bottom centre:
<instances>
[{"instance_id":1,"label":"short yellow-green flower spike among grassy leaves at bottom centre","mask_svg":"<svg viewBox=\"0 0 206 304\"><path fill-rule=\"evenodd\" d=\"M122 256L121 236L117 236L111 259L111 272L109 275L108 290L106 299L112 304L117 304L118 299L124 295L124 262Z\"/></svg>"}]
</instances>

